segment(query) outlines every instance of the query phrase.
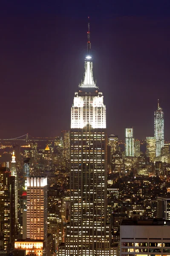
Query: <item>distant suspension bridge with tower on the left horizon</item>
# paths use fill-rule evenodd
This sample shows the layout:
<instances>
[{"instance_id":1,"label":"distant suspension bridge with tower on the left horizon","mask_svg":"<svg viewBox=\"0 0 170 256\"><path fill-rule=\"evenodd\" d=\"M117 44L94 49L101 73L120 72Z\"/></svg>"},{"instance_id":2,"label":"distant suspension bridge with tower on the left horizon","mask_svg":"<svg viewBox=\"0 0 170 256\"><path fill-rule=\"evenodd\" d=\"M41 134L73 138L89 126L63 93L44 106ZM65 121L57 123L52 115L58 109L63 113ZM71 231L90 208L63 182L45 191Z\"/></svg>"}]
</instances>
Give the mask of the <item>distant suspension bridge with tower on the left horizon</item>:
<instances>
[{"instance_id":1,"label":"distant suspension bridge with tower on the left horizon","mask_svg":"<svg viewBox=\"0 0 170 256\"><path fill-rule=\"evenodd\" d=\"M16 138L0 139L0 142L15 141L15 140L23 140L26 143L28 143L29 141L55 141L55 137L32 137L30 134L24 134Z\"/></svg>"}]
</instances>

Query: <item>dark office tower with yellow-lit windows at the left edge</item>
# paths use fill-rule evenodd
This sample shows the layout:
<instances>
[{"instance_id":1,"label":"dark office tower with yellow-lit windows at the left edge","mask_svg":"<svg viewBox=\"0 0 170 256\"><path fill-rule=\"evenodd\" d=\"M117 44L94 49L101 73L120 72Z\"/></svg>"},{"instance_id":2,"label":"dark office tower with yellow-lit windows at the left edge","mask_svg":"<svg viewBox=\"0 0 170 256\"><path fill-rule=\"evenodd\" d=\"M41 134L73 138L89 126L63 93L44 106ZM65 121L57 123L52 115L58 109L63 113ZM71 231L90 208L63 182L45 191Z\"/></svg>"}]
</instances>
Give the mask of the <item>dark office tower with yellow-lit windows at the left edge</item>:
<instances>
[{"instance_id":1,"label":"dark office tower with yellow-lit windows at the left edge","mask_svg":"<svg viewBox=\"0 0 170 256\"><path fill-rule=\"evenodd\" d=\"M0 167L0 232L3 249L11 250L15 236L15 177L6 167Z\"/></svg>"}]
</instances>

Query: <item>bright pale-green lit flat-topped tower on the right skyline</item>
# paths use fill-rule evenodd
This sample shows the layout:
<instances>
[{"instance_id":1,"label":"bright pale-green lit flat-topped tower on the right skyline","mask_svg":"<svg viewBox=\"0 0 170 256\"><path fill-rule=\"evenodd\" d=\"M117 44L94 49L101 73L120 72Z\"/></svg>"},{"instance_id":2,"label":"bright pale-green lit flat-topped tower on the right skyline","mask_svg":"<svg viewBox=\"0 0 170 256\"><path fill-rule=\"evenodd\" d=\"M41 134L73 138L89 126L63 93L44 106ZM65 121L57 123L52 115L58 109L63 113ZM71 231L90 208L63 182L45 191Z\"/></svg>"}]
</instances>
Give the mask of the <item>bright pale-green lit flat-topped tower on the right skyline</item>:
<instances>
[{"instance_id":1,"label":"bright pale-green lit flat-topped tower on the right skyline","mask_svg":"<svg viewBox=\"0 0 170 256\"><path fill-rule=\"evenodd\" d=\"M133 138L133 128L125 129L125 157L134 157L135 139Z\"/></svg>"}]
</instances>

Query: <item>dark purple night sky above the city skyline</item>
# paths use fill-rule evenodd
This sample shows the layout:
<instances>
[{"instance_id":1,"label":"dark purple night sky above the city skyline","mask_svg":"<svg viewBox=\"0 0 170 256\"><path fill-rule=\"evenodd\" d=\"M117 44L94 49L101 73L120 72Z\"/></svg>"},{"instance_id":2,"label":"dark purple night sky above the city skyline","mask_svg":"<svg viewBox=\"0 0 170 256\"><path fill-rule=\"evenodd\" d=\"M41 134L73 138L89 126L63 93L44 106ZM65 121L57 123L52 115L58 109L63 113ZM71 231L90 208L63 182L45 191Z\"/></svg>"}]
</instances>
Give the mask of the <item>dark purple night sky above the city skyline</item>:
<instances>
[{"instance_id":1,"label":"dark purple night sky above the city skyline","mask_svg":"<svg viewBox=\"0 0 170 256\"><path fill-rule=\"evenodd\" d=\"M170 138L170 1L0 1L0 138L59 136L83 79L90 16L94 79L108 134Z\"/></svg>"}]
</instances>

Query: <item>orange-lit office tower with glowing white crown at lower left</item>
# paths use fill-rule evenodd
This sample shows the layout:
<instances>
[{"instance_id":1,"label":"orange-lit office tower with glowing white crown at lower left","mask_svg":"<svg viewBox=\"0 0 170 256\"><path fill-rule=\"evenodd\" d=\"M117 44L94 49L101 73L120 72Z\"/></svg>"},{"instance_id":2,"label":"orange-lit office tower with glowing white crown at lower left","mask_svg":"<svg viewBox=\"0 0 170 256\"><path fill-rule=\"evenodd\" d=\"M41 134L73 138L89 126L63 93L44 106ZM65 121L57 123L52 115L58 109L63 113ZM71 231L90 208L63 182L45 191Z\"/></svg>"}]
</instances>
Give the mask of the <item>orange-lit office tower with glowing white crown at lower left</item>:
<instances>
[{"instance_id":1,"label":"orange-lit office tower with glowing white crown at lower left","mask_svg":"<svg viewBox=\"0 0 170 256\"><path fill-rule=\"evenodd\" d=\"M27 177L26 237L47 245L47 177Z\"/></svg>"}]
</instances>

